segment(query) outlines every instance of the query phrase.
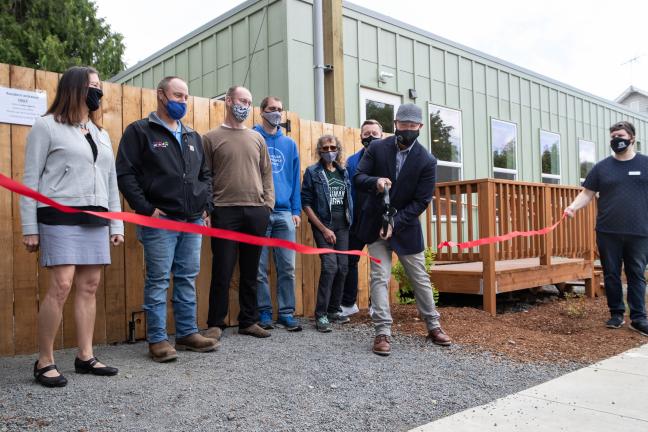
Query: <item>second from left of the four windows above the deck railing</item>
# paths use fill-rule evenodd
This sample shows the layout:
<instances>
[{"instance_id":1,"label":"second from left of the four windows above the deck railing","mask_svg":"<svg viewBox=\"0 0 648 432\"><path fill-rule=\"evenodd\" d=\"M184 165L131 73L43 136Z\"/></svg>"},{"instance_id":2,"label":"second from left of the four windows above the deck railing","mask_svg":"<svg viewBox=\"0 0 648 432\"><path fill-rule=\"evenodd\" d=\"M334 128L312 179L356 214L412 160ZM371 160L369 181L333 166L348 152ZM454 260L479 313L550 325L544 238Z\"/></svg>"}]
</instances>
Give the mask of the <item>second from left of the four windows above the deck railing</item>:
<instances>
[{"instance_id":1,"label":"second from left of the four windows above the deck railing","mask_svg":"<svg viewBox=\"0 0 648 432\"><path fill-rule=\"evenodd\" d=\"M493 177L515 180L517 177L517 124L491 119Z\"/></svg>"}]
</instances>

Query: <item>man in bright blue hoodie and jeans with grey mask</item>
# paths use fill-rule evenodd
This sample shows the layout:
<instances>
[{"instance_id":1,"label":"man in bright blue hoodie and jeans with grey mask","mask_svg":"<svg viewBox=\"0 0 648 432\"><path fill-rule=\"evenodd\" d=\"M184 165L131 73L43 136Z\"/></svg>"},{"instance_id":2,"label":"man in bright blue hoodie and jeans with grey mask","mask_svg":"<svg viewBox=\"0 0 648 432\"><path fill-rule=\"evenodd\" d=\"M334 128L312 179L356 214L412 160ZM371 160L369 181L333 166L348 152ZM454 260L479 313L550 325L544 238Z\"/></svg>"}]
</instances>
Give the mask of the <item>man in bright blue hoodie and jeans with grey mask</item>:
<instances>
[{"instance_id":1,"label":"man in bright blue hoodie and jeans with grey mask","mask_svg":"<svg viewBox=\"0 0 648 432\"><path fill-rule=\"evenodd\" d=\"M295 141L281 132L281 113L283 104L276 96L268 96L261 101L260 125L254 130L265 138L272 162L272 179L275 188L275 207L270 215L266 237L295 241L295 231L301 222L301 194L299 187L299 152ZM264 247L257 275L257 302L259 325L270 330L272 323L272 299L268 283L268 248ZM295 252L289 249L274 248L273 254L277 269L277 300L279 317L276 324L294 332L302 328L293 317L295 313Z\"/></svg>"}]
</instances>

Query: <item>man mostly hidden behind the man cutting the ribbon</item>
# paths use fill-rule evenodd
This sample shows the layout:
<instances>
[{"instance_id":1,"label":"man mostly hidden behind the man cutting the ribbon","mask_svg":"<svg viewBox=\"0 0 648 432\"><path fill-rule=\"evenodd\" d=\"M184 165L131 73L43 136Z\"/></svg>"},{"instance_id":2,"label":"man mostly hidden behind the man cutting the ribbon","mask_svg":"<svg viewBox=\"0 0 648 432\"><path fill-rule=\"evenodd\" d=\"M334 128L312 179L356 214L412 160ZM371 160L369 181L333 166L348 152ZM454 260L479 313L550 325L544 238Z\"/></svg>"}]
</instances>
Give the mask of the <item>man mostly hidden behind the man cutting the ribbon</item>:
<instances>
[{"instance_id":1,"label":"man mostly hidden behind the man cutting the ribbon","mask_svg":"<svg viewBox=\"0 0 648 432\"><path fill-rule=\"evenodd\" d=\"M347 172L349 178L352 179L358 169L358 164L362 155L371 141L382 138L382 125L373 119L367 119L362 122L360 126L360 140L362 141L362 148L356 153L349 156L347 159ZM349 230L349 250L362 250L365 247L365 242L360 240L355 234L355 230L360 222L360 210L364 202L366 193L358 191L357 188L351 183L351 198L353 199L353 222ZM358 262L360 257L357 255L349 255L349 272L347 273L346 280L344 281L344 291L342 293L342 309L341 315L350 316L359 312L356 301L358 299Z\"/></svg>"}]
</instances>

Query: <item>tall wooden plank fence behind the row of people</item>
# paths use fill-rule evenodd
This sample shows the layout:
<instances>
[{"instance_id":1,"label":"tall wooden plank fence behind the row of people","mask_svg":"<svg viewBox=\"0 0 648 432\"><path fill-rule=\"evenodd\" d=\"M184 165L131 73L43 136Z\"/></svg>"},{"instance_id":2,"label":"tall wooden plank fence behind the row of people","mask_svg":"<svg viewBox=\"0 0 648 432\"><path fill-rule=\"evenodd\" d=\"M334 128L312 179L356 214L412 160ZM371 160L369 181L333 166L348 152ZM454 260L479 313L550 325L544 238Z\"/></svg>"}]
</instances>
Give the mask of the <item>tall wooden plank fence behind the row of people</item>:
<instances>
[{"instance_id":1,"label":"tall wooden plank fence behind the row of people","mask_svg":"<svg viewBox=\"0 0 648 432\"><path fill-rule=\"evenodd\" d=\"M18 66L0 64L0 86L23 90L44 90L48 104L54 100L60 75ZM103 127L110 134L113 149L117 150L123 130L133 121L143 118L156 108L154 90L103 84L101 105ZM292 112L286 118L291 122L288 133L299 146L302 175L314 163L317 139L323 134L337 136L348 157L361 147L358 129L318 123L300 119ZM190 97L187 115L183 122L199 133L218 127L224 120L223 102ZM259 109L247 125L260 123ZM24 148L30 127L0 123L0 172L21 181L24 169ZM128 210L125 208L125 210ZM306 217L297 232L297 242L314 245L313 235ZM0 190L0 244L6 247L0 255L0 356L31 353L37 349L37 314L39 300L48 287L48 272L37 265L36 254L26 252L22 244L22 231L18 209L18 196ZM144 262L143 252L135 236L135 227L126 225L126 241L122 247L111 248L112 265L106 266L97 294L97 320L95 343L125 341L129 323L138 338L144 336L143 303ZM363 257L359 265L360 307L368 306L368 260ZM236 273L238 270L236 271ZM276 305L276 275L270 270L273 303ZM211 275L211 250L209 239L203 240L201 271L197 280L198 325L205 326L208 310ZM296 262L296 314L312 316L315 308L319 257L297 255ZM228 322L236 324L238 315L238 283L230 288L230 315ZM76 345L73 302L74 292L65 305L63 322L56 338L55 349ZM170 296L169 296L170 297ZM173 314L169 301L169 332L174 332Z\"/></svg>"}]
</instances>

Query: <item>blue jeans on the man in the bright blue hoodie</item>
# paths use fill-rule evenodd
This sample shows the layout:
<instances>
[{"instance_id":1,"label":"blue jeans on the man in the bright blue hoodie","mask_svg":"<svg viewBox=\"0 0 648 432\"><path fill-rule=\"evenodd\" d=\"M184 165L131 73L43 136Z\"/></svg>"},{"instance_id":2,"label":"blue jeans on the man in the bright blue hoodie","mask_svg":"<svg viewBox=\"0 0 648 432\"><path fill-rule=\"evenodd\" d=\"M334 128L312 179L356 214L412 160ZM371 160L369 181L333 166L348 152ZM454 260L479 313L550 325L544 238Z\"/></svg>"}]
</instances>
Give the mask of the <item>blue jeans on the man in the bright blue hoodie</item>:
<instances>
[{"instance_id":1,"label":"blue jeans on the man in the bright blue hoodie","mask_svg":"<svg viewBox=\"0 0 648 432\"><path fill-rule=\"evenodd\" d=\"M295 224L289 211L278 211L270 214L270 223L266 237L295 241ZM259 313L272 313L272 299L268 282L268 254L264 247L259 261L257 275L257 304ZM275 268L277 269L277 301L279 316L292 316L295 313L295 252L290 249L273 248Z\"/></svg>"}]
</instances>

